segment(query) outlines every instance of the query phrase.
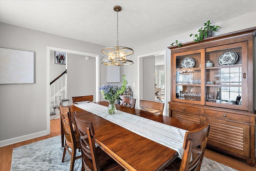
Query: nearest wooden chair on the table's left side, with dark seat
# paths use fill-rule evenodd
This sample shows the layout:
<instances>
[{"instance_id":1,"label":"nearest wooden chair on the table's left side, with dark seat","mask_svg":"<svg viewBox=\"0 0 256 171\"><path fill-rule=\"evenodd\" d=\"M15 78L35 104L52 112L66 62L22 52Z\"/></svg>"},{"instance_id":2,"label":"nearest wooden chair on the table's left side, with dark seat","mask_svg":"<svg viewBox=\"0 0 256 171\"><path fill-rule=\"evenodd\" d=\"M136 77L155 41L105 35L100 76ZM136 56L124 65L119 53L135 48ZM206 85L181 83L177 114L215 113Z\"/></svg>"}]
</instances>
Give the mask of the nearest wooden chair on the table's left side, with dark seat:
<instances>
[{"instance_id":1,"label":"nearest wooden chair on the table's left side, with dark seat","mask_svg":"<svg viewBox=\"0 0 256 171\"><path fill-rule=\"evenodd\" d=\"M74 121L80 136L82 149L82 171L124 171L125 169L101 148L96 148L92 122L79 119L74 113Z\"/></svg>"}]
</instances>

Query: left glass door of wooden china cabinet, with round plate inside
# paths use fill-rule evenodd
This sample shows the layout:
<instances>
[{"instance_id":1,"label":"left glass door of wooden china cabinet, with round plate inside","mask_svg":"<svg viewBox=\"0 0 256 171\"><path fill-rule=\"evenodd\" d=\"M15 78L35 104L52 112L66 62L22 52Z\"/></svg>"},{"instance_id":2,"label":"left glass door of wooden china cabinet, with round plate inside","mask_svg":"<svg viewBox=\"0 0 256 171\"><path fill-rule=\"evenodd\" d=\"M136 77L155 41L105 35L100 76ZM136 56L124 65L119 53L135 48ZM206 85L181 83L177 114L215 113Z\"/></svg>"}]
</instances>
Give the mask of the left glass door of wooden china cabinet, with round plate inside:
<instances>
[{"instance_id":1,"label":"left glass door of wooden china cabinet, with round plate inside","mask_svg":"<svg viewBox=\"0 0 256 171\"><path fill-rule=\"evenodd\" d=\"M193 104L204 104L204 70L201 70L204 51L195 50L174 54L173 100ZM204 86L204 84L203 84ZM203 98L202 98L203 97Z\"/></svg>"}]
</instances>

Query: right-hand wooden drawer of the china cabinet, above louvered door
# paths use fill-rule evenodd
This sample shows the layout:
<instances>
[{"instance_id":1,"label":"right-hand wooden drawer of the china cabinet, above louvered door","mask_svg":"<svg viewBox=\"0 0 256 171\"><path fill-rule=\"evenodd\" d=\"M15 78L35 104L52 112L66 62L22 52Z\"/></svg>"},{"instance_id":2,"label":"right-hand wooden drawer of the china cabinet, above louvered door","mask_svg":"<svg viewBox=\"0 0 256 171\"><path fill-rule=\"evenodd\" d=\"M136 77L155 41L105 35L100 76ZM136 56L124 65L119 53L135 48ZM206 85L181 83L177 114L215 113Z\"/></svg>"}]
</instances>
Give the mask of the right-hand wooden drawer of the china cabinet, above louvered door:
<instances>
[{"instance_id":1,"label":"right-hand wooden drawer of the china cabinet, above louvered door","mask_svg":"<svg viewBox=\"0 0 256 171\"><path fill-rule=\"evenodd\" d=\"M221 111L214 111L214 110L204 110L204 115L206 116L212 116L212 117L218 117L222 119L230 119L234 121L240 121L245 123L250 123L250 116L245 115L238 115L234 113L228 113L228 112L221 112Z\"/></svg>"}]
</instances>

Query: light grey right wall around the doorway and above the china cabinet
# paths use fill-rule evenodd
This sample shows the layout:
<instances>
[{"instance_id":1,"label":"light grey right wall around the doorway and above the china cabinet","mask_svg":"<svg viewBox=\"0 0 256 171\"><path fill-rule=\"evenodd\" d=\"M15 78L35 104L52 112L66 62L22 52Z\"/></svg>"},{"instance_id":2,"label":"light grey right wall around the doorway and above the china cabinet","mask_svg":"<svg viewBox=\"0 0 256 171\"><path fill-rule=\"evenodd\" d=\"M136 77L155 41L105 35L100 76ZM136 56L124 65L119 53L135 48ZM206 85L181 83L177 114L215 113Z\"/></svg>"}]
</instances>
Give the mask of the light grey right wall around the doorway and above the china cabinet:
<instances>
[{"instance_id":1,"label":"light grey right wall around the doorway and above the china cabinet","mask_svg":"<svg viewBox=\"0 0 256 171\"><path fill-rule=\"evenodd\" d=\"M222 21L222 22L218 22L218 23L213 23L215 25L220 26L221 28L218 30L218 32L214 32L213 36L219 35L219 34L225 34L225 33L229 33L229 32L234 32L237 30L242 30L242 29L246 29L246 28L251 28L251 27L255 27L256 26L256 11L243 15L243 16L239 16L236 18L232 18L230 20L226 20L226 21ZM206 20L210 20L213 21L214 18L208 18ZM202 21L202 25L203 25ZM198 26L198 29L201 26ZM193 38L191 38L189 35L190 34L195 34L196 32L198 32L198 29L196 30L191 30L189 32L185 32L182 34L178 34L176 36L172 36L172 37L168 37L162 40L158 40L155 42L150 42L148 44L144 44L142 46L138 46L133 48L134 50L134 55L132 56L132 59L134 61L134 64L138 63L138 56L143 56L145 54L151 54L154 52L159 52L159 51L163 51L166 50L166 94L167 94L167 101L170 101L170 92L171 92L171 87L170 87L170 49L168 49L167 47L170 46L170 44L172 42L175 42L175 40L181 41L183 43L186 42L191 42L193 40ZM170 28L170 32L171 32L171 28ZM254 49L256 45L254 44ZM255 61L255 55L254 55L254 61ZM256 68L255 62L254 62L254 68ZM256 70L256 69L255 69ZM255 87L255 82L256 82L256 72L254 70L254 87ZM125 74L128 76L127 77L127 81L130 83L134 83L136 86L132 87L133 91L134 91L134 96L133 98L138 98L138 69L137 69L137 65L131 65L131 66L127 66L127 68L125 68ZM136 108L138 108L137 104L136 104ZM254 109L256 109L256 92L254 90ZM167 110L168 111L168 110Z\"/></svg>"}]
</instances>

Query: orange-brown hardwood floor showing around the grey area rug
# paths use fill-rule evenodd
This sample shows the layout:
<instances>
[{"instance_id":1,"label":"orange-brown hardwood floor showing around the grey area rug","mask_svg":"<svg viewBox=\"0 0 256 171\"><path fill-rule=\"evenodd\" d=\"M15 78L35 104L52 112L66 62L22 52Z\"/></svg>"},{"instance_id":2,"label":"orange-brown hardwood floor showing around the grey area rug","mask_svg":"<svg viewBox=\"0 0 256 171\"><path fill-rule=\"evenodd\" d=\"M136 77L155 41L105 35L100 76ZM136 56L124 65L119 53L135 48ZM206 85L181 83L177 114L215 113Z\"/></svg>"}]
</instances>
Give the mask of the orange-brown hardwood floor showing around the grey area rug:
<instances>
[{"instance_id":1,"label":"orange-brown hardwood floor showing around the grey area rug","mask_svg":"<svg viewBox=\"0 0 256 171\"><path fill-rule=\"evenodd\" d=\"M29 143L33 143L36 141L41 141L43 139L47 139L50 137L55 137L57 135L60 135L60 120L53 119L50 121L50 134L49 135L1 147L0 148L0 171L10 171L11 163L12 163L12 149L13 148L19 147L22 145L26 145ZM239 171L256 171L256 165L254 167L250 167L247 165L246 161L234 158L230 155L225 155L225 154L222 154L222 153L219 153L216 151L206 149L204 156L208 157L209 159L212 159L214 161L218 161L219 163L222 163L224 165L227 165L227 166L232 167Z\"/></svg>"}]
</instances>

